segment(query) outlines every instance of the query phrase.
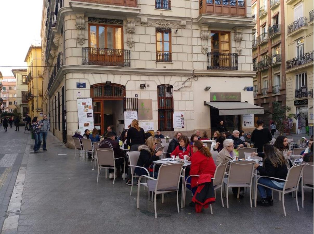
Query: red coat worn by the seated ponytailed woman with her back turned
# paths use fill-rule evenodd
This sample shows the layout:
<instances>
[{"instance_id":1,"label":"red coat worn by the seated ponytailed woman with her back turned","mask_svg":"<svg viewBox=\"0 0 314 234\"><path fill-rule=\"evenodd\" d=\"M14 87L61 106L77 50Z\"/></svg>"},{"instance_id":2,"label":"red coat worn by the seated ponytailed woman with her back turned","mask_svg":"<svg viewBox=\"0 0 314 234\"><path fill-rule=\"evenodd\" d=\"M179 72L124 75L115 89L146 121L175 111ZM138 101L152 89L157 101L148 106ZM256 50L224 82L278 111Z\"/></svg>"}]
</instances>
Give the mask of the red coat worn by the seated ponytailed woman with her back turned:
<instances>
[{"instance_id":1,"label":"red coat worn by the seated ponytailed woman with her back turned","mask_svg":"<svg viewBox=\"0 0 314 234\"><path fill-rule=\"evenodd\" d=\"M210 174L214 177L216 165L212 157L203 155L197 151L191 157L191 170L190 175ZM197 186L198 177L193 176L191 179L191 187Z\"/></svg>"}]
</instances>

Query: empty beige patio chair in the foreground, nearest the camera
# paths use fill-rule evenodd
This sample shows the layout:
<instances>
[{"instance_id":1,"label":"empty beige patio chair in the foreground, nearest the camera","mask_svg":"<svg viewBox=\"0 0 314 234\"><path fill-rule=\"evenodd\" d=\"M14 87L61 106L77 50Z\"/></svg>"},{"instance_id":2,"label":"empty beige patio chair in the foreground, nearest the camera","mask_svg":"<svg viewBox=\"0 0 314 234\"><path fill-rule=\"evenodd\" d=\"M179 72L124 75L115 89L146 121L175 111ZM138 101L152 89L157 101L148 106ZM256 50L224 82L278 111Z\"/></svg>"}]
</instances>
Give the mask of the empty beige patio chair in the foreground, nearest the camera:
<instances>
[{"instance_id":1,"label":"empty beige patio chair in the foreground, nearest the camera","mask_svg":"<svg viewBox=\"0 0 314 234\"><path fill-rule=\"evenodd\" d=\"M142 178L148 178L146 183L148 192L154 192L154 206L155 206L155 218L157 218L156 208L156 196L162 194L161 204L164 203L164 193L176 192L177 197L177 209L179 210L179 182L181 177L183 163L164 164L160 166L157 179L146 175L140 176L138 179L138 197L137 197L137 209L139 209L139 191Z\"/></svg>"}]
</instances>

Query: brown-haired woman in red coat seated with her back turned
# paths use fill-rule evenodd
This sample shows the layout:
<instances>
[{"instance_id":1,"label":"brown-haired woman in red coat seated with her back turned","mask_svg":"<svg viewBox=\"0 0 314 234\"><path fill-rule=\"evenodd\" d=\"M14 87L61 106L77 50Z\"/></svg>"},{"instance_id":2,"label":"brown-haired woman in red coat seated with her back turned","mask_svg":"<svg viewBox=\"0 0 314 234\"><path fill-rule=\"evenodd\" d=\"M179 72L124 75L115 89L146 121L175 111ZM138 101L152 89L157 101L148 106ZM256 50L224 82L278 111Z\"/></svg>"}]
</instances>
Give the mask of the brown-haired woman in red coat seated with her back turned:
<instances>
[{"instance_id":1,"label":"brown-haired woman in red coat seated with her back turned","mask_svg":"<svg viewBox=\"0 0 314 234\"><path fill-rule=\"evenodd\" d=\"M193 157L191 157L190 175L210 174L214 177L216 165L208 147L203 145L201 141L195 141L193 144ZM192 190L194 195L197 189L198 177L192 176L187 180L190 185L187 188Z\"/></svg>"}]
</instances>

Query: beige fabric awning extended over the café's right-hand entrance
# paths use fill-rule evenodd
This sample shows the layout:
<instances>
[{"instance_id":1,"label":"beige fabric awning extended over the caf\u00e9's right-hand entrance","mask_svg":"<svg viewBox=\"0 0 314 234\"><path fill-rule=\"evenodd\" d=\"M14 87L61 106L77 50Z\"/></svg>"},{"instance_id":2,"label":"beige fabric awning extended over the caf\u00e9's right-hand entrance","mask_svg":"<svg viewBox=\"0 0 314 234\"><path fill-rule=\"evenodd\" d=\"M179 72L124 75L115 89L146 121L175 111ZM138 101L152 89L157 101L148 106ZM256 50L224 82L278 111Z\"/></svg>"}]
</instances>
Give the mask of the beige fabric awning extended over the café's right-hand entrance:
<instances>
[{"instance_id":1,"label":"beige fabric awning extended over the caf\u00e9's right-hand entrance","mask_svg":"<svg viewBox=\"0 0 314 234\"><path fill-rule=\"evenodd\" d=\"M219 115L263 114L264 108L247 102L205 102L206 105L219 109Z\"/></svg>"}]
</instances>

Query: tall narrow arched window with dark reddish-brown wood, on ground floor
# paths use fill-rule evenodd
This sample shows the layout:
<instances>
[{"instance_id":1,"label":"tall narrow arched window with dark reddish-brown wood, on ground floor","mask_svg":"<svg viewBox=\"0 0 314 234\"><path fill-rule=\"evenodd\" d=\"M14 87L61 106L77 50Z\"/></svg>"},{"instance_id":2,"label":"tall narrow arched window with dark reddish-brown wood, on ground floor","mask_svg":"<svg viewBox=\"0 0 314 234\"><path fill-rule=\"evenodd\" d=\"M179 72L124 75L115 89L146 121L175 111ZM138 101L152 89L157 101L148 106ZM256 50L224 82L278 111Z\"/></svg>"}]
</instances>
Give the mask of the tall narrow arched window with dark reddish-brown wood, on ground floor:
<instances>
[{"instance_id":1,"label":"tall narrow arched window with dark reddish-brown wood, on ground floor","mask_svg":"<svg viewBox=\"0 0 314 234\"><path fill-rule=\"evenodd\" d=\"M160 131L173 131L173 86L157 86L158 95L158 128Z\"/></svg>"}]
</instances>

